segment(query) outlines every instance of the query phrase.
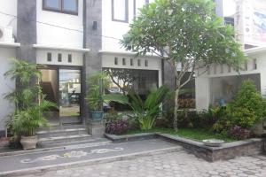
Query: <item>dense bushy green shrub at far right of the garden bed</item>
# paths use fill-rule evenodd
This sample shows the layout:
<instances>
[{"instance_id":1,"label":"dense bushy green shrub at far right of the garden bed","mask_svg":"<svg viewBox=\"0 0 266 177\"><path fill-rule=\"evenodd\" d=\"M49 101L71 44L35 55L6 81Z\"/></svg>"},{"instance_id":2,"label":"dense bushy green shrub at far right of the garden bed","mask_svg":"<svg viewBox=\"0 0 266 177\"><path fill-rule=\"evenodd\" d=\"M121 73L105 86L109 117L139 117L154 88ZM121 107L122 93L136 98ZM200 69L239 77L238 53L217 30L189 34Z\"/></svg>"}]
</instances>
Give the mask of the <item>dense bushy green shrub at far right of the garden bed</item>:
<instances>
[{"instance_id":1,"label":"dense bushy green shrub at far right of the garden bed","mask_svg":"<svg viewBox=\"0 0 266 177\"><path fill-rule=\"evenodd\" d=\"M226 106L226 111L213 128L217 132L229 131L234 126L250 128L265 117L266 102L254 82L247 80L242 83L236 99Z\"/></svg>"}]
</instances>

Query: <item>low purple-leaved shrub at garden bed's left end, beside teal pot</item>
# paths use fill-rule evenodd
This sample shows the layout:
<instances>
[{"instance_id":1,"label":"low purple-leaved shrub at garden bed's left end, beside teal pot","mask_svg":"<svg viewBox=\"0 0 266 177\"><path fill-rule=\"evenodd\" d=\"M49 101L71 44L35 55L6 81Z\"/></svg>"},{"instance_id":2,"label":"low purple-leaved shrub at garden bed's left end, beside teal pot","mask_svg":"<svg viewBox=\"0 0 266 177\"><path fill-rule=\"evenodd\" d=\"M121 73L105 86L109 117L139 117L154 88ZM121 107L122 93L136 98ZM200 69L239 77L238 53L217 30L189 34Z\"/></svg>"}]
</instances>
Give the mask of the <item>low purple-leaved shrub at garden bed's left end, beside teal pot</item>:
<instances>
[{"instance_id":1,"label":"low purple-leaved shrub at garden bed's left end, beside teal pot","mask_svg":"<svg viewBox=\"0 0 266 177\"><path fill-rule=\"evenodd\" d=\"M120 135L129 130L128 119L117 119L106 123L106 133Z\"/></svg>"}]
</instances>

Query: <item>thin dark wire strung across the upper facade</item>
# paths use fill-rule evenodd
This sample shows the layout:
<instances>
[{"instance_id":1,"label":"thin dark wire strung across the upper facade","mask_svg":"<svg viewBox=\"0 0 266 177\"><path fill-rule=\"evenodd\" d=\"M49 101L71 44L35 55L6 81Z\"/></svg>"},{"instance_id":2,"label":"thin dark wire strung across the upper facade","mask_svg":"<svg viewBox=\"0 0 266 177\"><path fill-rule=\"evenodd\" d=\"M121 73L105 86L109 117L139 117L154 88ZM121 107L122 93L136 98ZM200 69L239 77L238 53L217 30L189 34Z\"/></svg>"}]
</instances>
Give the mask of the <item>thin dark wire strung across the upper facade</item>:
<instances>
[{"instance_id":1,"label":"thin dark wire strung across the upper facade","mask_svg":"<svg viewBox=\"0 0 266 177\"><path fill-rule=\"evenodd\" d=\"M59 27L59 28L62 28L62 29L66 29L66 30L69 30L69 31L75 31L75 32L79 32L79 33L83 34L83 31L78 30L78 29L74 29L74 28L62 27L62 26L59 26L59 25L54 25L54 24L51 24L51 23L46 23L46 22L43 22L43 21L37 21L37 20L32 20L32 19L23 19L23 18L20 18L20 17L18 17L16 15L12 15L12 14L5 13L5 12L0 12L0 14L6 15L6 16L10 16L10 17L22 20L22 21L36 22L36 23L39 23L39 24L43 24L43 25L47 25L47 26L51 26L51 27ZM119 38L115 38L115 37L107 36L107 35L95 35L95 36L106 37L106 38L110 38L110 39L114 39L114 40L118 40L118 41L121 40Z\"/></svg>"}]
</instances>

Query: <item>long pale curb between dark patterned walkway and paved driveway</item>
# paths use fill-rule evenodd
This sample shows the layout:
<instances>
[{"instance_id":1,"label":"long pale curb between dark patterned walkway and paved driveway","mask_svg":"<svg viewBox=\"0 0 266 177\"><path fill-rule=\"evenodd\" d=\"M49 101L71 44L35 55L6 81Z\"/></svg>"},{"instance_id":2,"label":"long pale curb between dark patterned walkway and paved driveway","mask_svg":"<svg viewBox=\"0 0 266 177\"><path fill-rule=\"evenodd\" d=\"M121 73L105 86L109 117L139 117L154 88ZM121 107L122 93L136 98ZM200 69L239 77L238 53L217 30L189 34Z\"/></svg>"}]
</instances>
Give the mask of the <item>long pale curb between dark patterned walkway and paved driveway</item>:
<instances>
[{"instance_id":1,"label":"long pale curb between dark patterned walkway and paved driveway","mask_svg":"<svg viewBox=\"0 0 266 177\"><path fill-rule=\"evenodd\" d=\"M148 157L148 156L153 156L153 155L161 154L161 153L176 152L179 150L183 150L183 148L182 147L171 147L171 148L165 148L165 149L160 149L160 150L148 150L144 152L131 153L131 154L108 157L108 158L82 160L78 162L71 162L71 163L65 163L65 164L60 164L60 165L45 165L45 166L40 166L40 167L3 172L3 173L0 173L0 177L22 176L22 175L33 174L33 173L35 174L45 173L45 172L56 171L60 169L66 169L69 167L79 167L79 166L84 166L84 165L98 165L98 164L103 164L103 163L110 163L113 161L130 160L130 159L135 159L138 157Z\"/></svg>"}]
</instances>

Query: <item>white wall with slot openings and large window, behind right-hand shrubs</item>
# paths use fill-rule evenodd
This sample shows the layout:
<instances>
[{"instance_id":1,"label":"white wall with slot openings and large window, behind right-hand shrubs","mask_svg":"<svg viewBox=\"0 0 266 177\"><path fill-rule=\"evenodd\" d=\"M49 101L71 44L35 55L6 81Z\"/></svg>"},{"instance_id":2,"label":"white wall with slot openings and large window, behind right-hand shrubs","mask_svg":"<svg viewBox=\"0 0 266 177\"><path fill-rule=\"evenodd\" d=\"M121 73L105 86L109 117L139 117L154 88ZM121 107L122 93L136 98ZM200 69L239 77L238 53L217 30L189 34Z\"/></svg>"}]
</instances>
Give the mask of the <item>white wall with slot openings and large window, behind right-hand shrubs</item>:
<instances>
[{"instance_id":1,"label":"white wall with slot openings and large window, behind right-hand shrubs","mask_svg":"<svg viewBox=\"0 0 266 177\"><path fill-rule=\"evenodd\" d=\"M207 110L210 105L230 103L240 84L249 79L266 96L266 48L256 47L244 51L246 63L235 71L228 65L211 65L209 71L196 78L196 108Z\"/></svg>"}]
</instances>

